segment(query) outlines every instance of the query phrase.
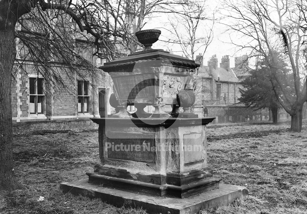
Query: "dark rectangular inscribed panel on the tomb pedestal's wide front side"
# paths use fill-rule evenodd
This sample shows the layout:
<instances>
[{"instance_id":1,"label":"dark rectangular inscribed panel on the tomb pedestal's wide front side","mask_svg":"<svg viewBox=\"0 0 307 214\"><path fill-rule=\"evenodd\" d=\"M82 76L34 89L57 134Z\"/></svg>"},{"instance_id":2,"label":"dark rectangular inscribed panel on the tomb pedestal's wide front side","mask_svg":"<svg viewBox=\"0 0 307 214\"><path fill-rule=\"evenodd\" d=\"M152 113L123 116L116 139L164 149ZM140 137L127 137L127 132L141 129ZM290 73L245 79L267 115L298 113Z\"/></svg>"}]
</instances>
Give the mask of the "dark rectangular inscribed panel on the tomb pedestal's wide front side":
<instances>
[{"instance_id":1,"label":"dark rectangular inscribed panel on the tomb pedestal's wide front side","mask_svg":"<svg viewBox=\"0 0 307 214\"><path fill-rule=\"evenodd\" d=\"M152 133L107 133L108 158L156 162L155 134Z\"/></svg>"}]
</instances>

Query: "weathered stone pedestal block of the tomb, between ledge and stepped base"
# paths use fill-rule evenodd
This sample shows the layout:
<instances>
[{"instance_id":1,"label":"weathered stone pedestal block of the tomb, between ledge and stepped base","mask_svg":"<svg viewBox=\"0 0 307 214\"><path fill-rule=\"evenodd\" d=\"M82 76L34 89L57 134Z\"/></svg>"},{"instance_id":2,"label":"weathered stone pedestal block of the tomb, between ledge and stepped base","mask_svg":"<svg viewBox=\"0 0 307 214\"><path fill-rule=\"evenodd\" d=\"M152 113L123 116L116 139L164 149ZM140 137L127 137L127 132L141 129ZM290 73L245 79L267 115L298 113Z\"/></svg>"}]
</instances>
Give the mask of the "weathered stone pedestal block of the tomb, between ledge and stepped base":
<instances>
[{"instance_id":1,"label":"weathered stone pedestal block of the tomb, between ledge and stepped base","mask_svg":"<svg viewBox=\"0 0 307 214\"><path fill-rule=\"evenodd\" d=\"M167 182L168 184L179 186L208 177L207 174L210 170L201 172L202 169L207 168L205 126L194 125L195 121L202 120L178 120L187 122L188 126L164 128L160 124L160 127L136 127L130 119L110 118L103 120L105 123L99 126L101 164L95 172L111 177L113 176L110 172L118 172L119 175L115 177L123 179L130 179L131 176L141 178L143 175L140 180L142 182L149 182L152 180L152 175L159 175L159 177L167 177L167 180L171 182ZM190 124L191 122L192 124ZM114 148L110 148L112 143L114 143ZM153 149L137 152L116 151L120 148L115 148L116 145L123 145L127 148L134 145L144 149L143 144L146 144L146 148ZM122 173L122 170L125 170L125 173ZM195 172L195 170L200 171L198 175L200 178L192 176L191 172ZM184 175L188 175L188 177ZM159 182L162 181L161 178L159 180ZM155 184L159 183L155 178L153 181Z\"/></svg>"}]
</instances>

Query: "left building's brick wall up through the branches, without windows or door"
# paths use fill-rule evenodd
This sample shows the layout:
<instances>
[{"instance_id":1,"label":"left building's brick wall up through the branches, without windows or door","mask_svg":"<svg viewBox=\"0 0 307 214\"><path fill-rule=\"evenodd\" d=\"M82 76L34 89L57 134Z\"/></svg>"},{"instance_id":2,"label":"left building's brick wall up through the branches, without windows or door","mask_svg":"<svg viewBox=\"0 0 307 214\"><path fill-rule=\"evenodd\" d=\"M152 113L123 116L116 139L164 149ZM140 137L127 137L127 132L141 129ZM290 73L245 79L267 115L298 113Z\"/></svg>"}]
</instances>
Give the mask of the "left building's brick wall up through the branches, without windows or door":
<instances>
[{"instance_id":1,"label":"left building's brick wall up through the branches, without windows or door","mask_svg":"<svg viewBox=\"0 0 307 214\"><path fill-rule=\"evenodd\" d=\"M76 24L72 23L68 16L63 14L58 18L59 19L52 20L51 24L55 27L54 30L67 40L65 41L66 44L69 44L76 54L82 56L83 58L78 60L78 57L70 56L72 61L66 61L65 64L63 63L63 57L61 58L62 55L55 54L56 49L54 49L55 52L52 52L50 56L49 54L46 54L46 56L48 55L46 58L47 61L53 63L53 65L49 65L53 68L51 71L54 72L48 77L49 79L52 79L52 81L49 81L46 79L46 74L41 74L41 72L45 72L45 69L36 69L35 66L33 66L33 58L30 57L31 55L29 54L28 48L20 39L16 39L16 58L19 63L17 63L17 61L15 62L12 72L11 106L13 123L19 124L20 126L29 126L31 129L36 126L46 128L50 126L49 128L53 129L51 126L56 123L47 123L46 121L59 121L63 119L75 121L100 117L100 90L105 90L107 92L107 102L105 106L107 109L107 114L111 114L112 112L112 108L108 103L109 97L113 93L111 77L102 70L99 70L97 67L84 69L84 67L80 66L82 68L76 68L78 69L78 72L76 72L75 70L71 69L71 65L69 65L70 63L78 63L84 66L89 65L89 63L95 65L96 61L99 61L100 64L97 64L97 66L100 66L101 63L103 63L102 60L97 60L97 56L93 56L93 53L96 51L95 45L93 46L90 42L88 42L87 33L78 33L78 30L75 30ZM28 27L25 28L25 26ZM23 25L17 25L16 30L22 30L23 33L26 31L31 31L31 33L28 33L28 36L33 35L33 32L43 34L48 33L45 32L45 29L41 28L41 25L39 25L35 20L24 20ZM75 62L74 59L76 58L78 61ZM79 73L80 76L76 75L76 73ZM43 76L46 77L44 79L43 87L43 112L42 114L30 114L29 107L33 107L33 104L30 103L29 78L43 78ZM65 83L65 86L58 83L56 81L57 78L61 78ZM88 81L89 83L89 97L87 103L88 111L84 113L78 112L78 80ZM30 122L33 123L33 126L29 125ZM22 125L23 123L27 123L28 125Z\"/></svg>"}]
</instances>

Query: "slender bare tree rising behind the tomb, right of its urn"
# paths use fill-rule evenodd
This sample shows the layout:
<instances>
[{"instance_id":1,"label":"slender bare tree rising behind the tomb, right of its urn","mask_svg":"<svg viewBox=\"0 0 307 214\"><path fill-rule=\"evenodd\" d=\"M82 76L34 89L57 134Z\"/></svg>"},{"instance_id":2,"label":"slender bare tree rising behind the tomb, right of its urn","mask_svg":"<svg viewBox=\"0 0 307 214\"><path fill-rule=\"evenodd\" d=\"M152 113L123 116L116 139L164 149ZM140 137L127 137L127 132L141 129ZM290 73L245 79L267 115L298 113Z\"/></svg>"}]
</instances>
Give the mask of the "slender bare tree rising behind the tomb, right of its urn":
<instances>
[{"instance_id":1,"label":"slender bare tree rising behind the tomb, right of its urn","mask_svg":"<svg viewBox=\"0 0 307 214\"><path fill-rule=\"evenodd\" d=\"M202 50L200 60L204 57L208 45L213 39L214 14L212 17L207 15L207 1L188 1L187 4L177 6L183 13L175 13L169 16L165 25L170 36L164 41L168 45L177 45L180 47L178 52L183 52L188 59L195 59L195 53ZM170 49L170 48L169 48ZM199 57L199 56L198 56ZM191 88L196 94L196 103L201 98L202 83L197 78L199 70L192 74ZM193 105L190 109L194 111Z\"/></svg>"}]
</instances>

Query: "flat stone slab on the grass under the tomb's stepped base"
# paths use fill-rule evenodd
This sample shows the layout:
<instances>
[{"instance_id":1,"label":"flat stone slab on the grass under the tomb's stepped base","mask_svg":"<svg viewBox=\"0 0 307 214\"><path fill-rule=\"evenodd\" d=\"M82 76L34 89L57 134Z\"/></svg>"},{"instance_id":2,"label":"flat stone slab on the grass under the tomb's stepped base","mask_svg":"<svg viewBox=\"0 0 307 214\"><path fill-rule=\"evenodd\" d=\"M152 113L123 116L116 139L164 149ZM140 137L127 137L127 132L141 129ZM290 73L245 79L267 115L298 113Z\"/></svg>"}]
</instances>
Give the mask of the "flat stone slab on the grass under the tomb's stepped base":
<instances>
[{"instance_id":1,"label":"flat stone slab on the grass under the tomb's stepped base","mask_svg":"<svg viewBox=\"0 0 307 214\"><path fill-rule=\"evenodd\" d=\"M220 184L219 189L198 193L180 199L170 197L148 196L118 189L106 188L88 183L88 179L60 184L64 193L100 198L102 201L117 207L143 208L150 214L194 214L201 209L209 209L223 204L230 204L236 199L246 200L248 191L243 186Z\"/></svg>"}]
</instances>

